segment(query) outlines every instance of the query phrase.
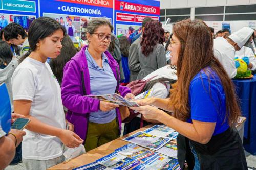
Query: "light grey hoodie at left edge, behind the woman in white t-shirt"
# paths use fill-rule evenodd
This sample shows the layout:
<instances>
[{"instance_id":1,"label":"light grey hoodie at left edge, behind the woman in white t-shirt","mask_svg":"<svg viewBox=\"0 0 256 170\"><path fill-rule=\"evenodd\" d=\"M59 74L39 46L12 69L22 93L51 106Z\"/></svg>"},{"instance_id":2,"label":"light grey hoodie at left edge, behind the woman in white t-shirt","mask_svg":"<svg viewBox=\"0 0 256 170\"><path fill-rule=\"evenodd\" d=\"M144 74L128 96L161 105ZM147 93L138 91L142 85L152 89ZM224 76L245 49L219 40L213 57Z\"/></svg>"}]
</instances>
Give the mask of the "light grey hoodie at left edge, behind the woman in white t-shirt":
<instances>
[{"instance_id":1,"label":"light grey hoodie at left edge, behind the woman in white t-shirt","mask_svg":"<svg viewBox=\"0 0 256 170\"><path fill-rule=\"evenodd\" d=\"M11 78L17 66L18 66L18 60L16 58L13 58L12 61L4 69L0 69L0 84L5 83L7 86L8 93L10 96L12 112L13 112L13 102L12 102Z\"/></svg>"}]
</instances>

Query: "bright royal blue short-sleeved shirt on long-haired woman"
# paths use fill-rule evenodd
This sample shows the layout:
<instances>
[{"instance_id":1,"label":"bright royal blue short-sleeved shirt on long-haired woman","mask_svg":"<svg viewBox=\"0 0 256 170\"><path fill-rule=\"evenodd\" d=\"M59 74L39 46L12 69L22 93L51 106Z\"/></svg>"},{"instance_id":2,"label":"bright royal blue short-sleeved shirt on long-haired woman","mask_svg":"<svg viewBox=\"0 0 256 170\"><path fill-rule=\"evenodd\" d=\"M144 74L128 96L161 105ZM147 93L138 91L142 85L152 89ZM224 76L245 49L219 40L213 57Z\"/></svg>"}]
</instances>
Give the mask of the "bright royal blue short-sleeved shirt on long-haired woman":
<instances>
[{"instance_id":1,"label":"bright royal blue short-sleeved shirt on long-haired woman","mask_svg":"<svg viewBox=\"0 0 256 170\"><path fill-rule=\"evenodd\" d=\"M229 128L226 114L226 95L219 76L210 67L201 70L189 87L190 117L201 122L216 122L213 136ZM208 76L207 76L208 75ZM210 82L210 83L209 83ZM224 123L223 123L224 122Z\"/></svg>"}]
</instances>

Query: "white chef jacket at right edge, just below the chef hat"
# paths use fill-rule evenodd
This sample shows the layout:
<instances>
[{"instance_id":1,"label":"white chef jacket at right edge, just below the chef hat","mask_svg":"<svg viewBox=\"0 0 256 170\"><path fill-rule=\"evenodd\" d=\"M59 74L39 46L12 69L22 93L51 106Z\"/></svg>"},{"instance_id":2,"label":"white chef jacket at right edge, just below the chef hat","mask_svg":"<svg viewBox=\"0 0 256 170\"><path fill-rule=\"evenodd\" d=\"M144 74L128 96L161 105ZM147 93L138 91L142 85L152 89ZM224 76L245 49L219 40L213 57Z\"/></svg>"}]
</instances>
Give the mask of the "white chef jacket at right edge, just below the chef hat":
<instances>
[{"instance_id":1,"label":"white chef jacket at right edge, just below the chef hat","mask_svg":"<svg viewBox=\"0 0 256 170\"><path fill-rule=\"evenodd\" d=\"M239 51L236 51L236 57L242 59L243 57L248 57L250 63L252 64L251 70L256 70L256 57L251 48L243 46Z\"/></svg>"}]
</instances>

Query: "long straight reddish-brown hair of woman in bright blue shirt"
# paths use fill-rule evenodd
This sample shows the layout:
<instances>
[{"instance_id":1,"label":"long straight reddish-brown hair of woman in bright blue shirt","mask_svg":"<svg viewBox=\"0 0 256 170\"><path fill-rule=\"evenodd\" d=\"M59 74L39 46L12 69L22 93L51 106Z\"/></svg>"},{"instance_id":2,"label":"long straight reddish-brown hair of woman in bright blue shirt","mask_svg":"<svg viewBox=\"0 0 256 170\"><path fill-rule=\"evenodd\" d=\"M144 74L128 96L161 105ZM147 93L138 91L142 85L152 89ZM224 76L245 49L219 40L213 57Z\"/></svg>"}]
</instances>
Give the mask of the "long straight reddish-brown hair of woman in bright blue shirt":
<instances>
[{"instance_id":1,"label":"long straight reddish-brown hair of woman in bright blue shirt","mask_svg":"<svg viewBox=\"0 0 256 170\"><path fill-rule=\"evenodd\" d=\"M181 48L177 60L178 81L173 85L170 95L170 105L174 108L174 116L185 121L189 118L189 86L191 80L200 70L206 71L209 66L219 76L226 95L226 114L230 126L237 122L240 108L237 103L234 85L226 71L213 54L213 40L209 27L201 20L182 20L173 27L174 35L179 39ZM211 83L208 76L208 82ZM207 87L205 87L207 88ZM209 89L210 91L210 89Z\"/></svg>"}]
</instances>

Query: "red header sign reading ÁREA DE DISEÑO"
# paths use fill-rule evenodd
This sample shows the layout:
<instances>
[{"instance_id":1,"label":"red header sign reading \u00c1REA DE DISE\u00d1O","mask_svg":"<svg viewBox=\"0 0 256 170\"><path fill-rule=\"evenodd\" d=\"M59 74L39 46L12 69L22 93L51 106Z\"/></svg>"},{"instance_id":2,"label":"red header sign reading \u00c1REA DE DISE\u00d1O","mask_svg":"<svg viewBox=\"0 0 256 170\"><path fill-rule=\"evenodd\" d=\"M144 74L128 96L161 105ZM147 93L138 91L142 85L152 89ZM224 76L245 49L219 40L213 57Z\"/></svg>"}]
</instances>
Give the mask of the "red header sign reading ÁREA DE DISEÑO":
<instances>
[{"instance_id":1,"label":"red header sign reading \u00c1REA DE DISE\u00d1O","mask_svg":"<svg viewBox=\"0 0 256 170\"><path fill-rule=\"evenodd\" d=\"M123 2L123 1L115 1L115 10L154 14L154 15L160 14L159 7L135 4L130 2Z\"/></svg>"}]
</instances>

